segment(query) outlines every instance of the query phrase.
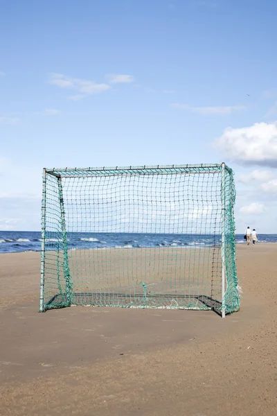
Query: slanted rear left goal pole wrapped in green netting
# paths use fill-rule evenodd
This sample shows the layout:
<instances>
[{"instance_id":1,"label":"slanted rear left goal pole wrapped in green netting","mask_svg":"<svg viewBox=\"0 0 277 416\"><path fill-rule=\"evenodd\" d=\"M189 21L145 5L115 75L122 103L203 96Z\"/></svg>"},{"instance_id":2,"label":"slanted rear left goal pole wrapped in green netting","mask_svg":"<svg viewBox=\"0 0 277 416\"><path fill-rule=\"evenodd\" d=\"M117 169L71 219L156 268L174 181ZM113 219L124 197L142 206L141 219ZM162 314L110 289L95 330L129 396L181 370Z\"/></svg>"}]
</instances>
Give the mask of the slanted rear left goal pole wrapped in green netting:
<instances>
[{"instance_id":1,"label":"slanted rear left goal pole wrapped in green netting","mask_svg":"<svg viewBox=\"0 0 277 416\"><path fill-rule=\"evenodd\" d=\"M62 177L57 178L57 186L59 189L60 196L60 210L61 210L61 223L62 223L62 245L64 249L64 279L65 279L65 290L66 290L66 300L67 305L71 305L71 295L72 295L72 283L71 276L69 272L69 255L67 252L67 233L66 233L66 223L65 223L65 211L64 211L64 197L62 195Z\"/></svg>"}]
</instances>

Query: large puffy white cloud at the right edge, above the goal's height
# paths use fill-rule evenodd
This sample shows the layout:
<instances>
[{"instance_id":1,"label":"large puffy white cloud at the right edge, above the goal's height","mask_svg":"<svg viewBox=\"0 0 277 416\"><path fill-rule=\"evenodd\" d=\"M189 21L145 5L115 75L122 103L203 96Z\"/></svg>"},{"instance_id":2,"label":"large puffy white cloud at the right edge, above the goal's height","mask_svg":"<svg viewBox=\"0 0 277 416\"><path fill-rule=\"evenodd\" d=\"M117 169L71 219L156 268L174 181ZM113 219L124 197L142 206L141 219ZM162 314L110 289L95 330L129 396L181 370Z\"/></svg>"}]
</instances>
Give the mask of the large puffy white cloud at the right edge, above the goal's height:
<instances>
[{"instance_id":1,"label":"large puffy white cloud at the right edge, above the goal's height","mask_svg":"<svg viewBox=\"0 0 277 416\"><path fill-rule=\"evenodd\" d=\"M214 146L237 162L277 166L277 122L226 128Z\"/></svg>"}]
</instances>

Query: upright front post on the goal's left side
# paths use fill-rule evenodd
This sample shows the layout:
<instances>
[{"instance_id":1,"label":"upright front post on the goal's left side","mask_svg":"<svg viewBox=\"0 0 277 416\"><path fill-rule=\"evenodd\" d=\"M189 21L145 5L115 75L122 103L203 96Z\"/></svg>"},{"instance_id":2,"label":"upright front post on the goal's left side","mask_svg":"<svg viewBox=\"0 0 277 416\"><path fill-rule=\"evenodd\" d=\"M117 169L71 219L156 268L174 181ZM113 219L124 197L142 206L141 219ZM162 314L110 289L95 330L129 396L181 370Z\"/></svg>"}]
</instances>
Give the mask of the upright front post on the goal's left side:
<instances>
[{"instance_id":1,"label":"upright front post on the goal's left side","mask_svg":"<svg viewBox=\"0 0 277 416\"><path fill-rule=\"evenodd\" d=\"M40 296L39 312L44 312L44 268L45 268L45 228L46 228L46 170L42 172L42 250L40 253Z\"/></svg>"}]
</instances>

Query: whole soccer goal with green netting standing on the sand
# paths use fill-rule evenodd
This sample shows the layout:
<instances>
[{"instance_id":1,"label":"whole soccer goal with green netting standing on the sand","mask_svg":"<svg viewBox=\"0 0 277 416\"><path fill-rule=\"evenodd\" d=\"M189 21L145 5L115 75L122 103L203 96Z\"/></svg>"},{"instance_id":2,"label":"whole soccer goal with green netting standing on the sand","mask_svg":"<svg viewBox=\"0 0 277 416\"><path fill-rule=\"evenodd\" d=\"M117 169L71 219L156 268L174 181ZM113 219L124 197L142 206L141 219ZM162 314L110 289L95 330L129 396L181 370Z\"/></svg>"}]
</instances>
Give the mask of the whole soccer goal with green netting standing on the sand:
<instances>
[{"instance_id":1,"label":"whole soccer goal with green netting standing on the sand","mask_svg":"<svg viewBox=\"0 0 277 416\"><path fill-rule=\"evenodd\" d=\"M240 309L233 171L44 168L40 311Z\"/></svg>"}]
</instances>

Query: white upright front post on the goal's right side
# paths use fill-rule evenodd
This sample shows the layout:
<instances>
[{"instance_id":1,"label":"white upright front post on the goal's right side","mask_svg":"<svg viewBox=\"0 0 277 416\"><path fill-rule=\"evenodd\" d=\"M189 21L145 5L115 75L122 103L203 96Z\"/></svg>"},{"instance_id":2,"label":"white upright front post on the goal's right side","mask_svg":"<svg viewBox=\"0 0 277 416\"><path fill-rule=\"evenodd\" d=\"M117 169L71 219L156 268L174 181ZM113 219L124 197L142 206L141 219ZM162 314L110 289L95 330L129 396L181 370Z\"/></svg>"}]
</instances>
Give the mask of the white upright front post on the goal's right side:
<instances>
[{"instance_id":1,"label":"white upright front post on the goal's right side","mask_svg":"<svg viewBox=\"0 0 277 416\"><path fill-rule=\"evenodd\" d=\"M222 318L225 318L225 164L221 170L221 258L222 258Z\"/></svg>"}]
</instances>

